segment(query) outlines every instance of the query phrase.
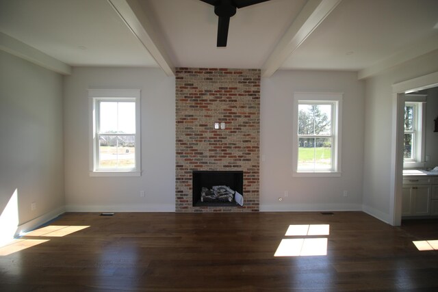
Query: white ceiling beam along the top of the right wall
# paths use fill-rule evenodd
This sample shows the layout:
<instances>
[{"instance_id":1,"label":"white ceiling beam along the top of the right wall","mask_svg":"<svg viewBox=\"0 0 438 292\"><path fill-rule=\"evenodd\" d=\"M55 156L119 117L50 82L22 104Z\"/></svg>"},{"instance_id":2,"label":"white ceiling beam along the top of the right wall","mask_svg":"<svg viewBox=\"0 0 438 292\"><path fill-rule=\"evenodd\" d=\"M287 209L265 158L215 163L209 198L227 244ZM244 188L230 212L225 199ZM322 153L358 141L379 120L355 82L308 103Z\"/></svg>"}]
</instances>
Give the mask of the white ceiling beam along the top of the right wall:
<instances>
[{"instance_id":1,"label":"white ceiling beam along the top of the right wall","mask_svg":"<svg viewBox=\"0 0 438 292\"><path fill-rule=\"evenodd\" d=\"M372 77L380 72L435 50L438 50L438 35L436 34L423 42L416 42L413 46L394 53L394 55L381 60L381 62L360 70L357 74L357 78L361 80Z\"/></svg>"}]
</instances>

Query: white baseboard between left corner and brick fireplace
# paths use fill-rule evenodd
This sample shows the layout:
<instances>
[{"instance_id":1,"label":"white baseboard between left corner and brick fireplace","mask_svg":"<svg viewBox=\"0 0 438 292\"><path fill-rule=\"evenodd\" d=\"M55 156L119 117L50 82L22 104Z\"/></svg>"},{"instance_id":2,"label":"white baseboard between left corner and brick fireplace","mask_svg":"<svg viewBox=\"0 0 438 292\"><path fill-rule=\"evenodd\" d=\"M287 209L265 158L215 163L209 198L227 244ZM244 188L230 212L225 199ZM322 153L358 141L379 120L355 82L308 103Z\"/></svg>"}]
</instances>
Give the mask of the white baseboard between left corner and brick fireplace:
<instances>
[{"instance_id":1,"label":"white baseboard between left corner and brick fireplace","mask_svg":"<svg viewBox=\"0 0 438 292\"><path fill-rule=\"evenodd\" d=\"M66 212L175 212L175 205L66 205Z\"/></svg>"}]
</instances>

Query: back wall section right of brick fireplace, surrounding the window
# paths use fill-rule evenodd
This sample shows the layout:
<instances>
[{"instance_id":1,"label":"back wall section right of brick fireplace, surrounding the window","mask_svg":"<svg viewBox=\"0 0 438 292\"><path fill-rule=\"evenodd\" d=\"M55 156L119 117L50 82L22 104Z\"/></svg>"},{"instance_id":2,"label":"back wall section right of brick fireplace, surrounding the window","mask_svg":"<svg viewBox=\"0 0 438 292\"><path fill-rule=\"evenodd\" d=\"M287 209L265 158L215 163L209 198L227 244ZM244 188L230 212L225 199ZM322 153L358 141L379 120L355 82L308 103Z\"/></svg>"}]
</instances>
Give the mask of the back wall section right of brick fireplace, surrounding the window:
<instances>
[{"instance_id":1,"label":"back wall section right of brick fireplace, surrounding the window","mask_svg":"<svg viewBox=\"0 0 438 292\"><path fill-rule=\"evenodd\" d=\"M342 176L292 177L294 92L343 92ZM364 83L355 72L277 71L261 81L261 211L361 210ZM289 196L285 197L285 191ZM348 191L348 197L343 196ZM279 197L282 200L279 201Z\"/></svg>"}]
</instances>

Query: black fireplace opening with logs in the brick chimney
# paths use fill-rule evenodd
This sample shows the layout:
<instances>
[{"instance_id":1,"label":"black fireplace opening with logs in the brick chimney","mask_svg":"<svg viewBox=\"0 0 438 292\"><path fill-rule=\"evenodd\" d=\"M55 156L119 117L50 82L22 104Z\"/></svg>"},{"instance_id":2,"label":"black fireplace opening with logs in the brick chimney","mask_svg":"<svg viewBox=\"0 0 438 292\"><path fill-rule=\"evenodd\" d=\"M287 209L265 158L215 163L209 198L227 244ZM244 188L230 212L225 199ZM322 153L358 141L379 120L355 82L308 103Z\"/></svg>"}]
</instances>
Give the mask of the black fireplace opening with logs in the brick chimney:
<instances>
[{"instance_id":1,"label":"black fireplace opening with logs in the brick chimney","mask_svg":"<svg viewBox=\"0 0 438 292\"><path fill-rule=\"evenodd\" d=\"M243 205L244 172L192 172L194 207L239 207Z\"/></svg>"}]
</instances>

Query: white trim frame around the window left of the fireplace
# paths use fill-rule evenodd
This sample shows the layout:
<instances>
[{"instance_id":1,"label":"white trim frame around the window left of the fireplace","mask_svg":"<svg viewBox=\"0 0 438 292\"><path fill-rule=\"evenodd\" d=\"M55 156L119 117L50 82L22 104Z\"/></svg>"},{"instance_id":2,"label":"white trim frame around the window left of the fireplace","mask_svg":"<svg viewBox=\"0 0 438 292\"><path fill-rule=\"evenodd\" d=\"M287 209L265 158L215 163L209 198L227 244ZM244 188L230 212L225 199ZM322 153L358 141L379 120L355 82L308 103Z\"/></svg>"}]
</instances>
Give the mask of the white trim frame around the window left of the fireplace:
<instances>
[{"instance_id":1,"label":"white trim frame around the window left of the fireplace","mask_svg":"<svg viewBox=\"0 0 438 292\"><path fill-rule=\"evenodd\" d=\"M135 170L96 170L96 101L132 98L136 101L136 168ZM88 90L89 102L89 170L90 176L141 176L140 90Z\"/></svg>"}]
</instances>

